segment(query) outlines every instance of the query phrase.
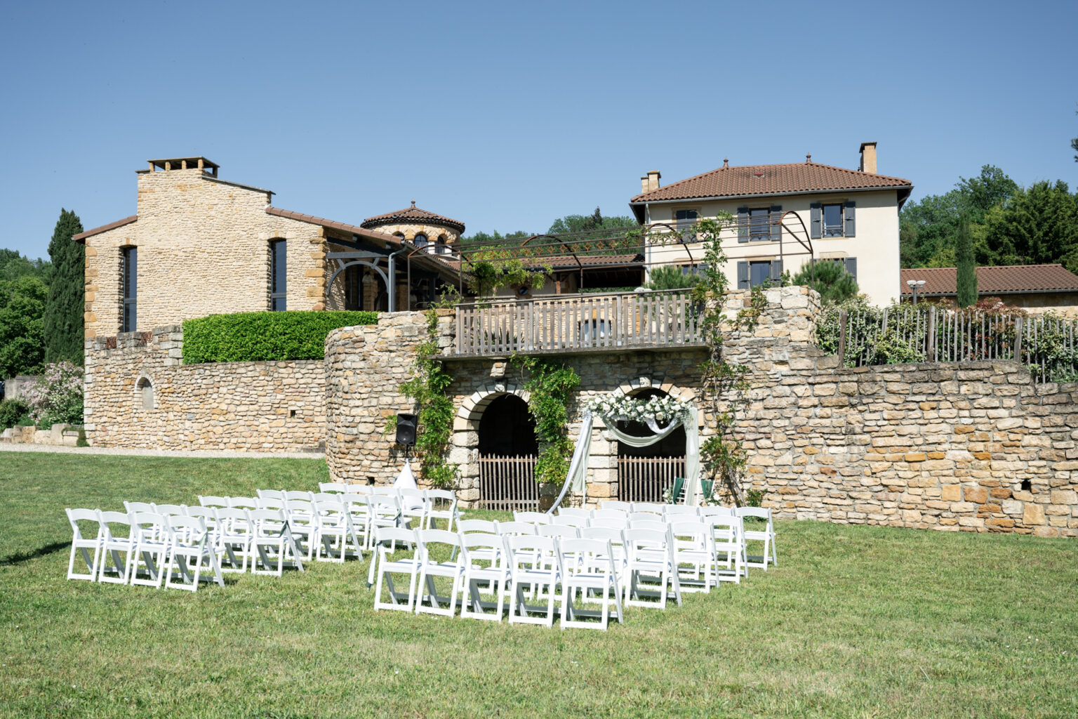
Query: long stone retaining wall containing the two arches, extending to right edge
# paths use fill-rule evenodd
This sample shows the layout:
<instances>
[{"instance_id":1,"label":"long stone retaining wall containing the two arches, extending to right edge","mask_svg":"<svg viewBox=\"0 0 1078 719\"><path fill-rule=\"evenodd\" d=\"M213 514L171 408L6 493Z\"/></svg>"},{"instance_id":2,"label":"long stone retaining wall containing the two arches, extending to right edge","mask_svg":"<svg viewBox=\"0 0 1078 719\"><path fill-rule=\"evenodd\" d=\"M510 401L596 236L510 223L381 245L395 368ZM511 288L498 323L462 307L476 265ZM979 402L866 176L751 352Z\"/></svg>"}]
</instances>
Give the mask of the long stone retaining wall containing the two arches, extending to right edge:
<instances>
[{"instance_id":1,"label":"long stone retaining wall containing the two arches, extending to right edge","mask_svg":"<svg viewBox=\"0 0 1078 719\"><path fill-rule=\"evenodd\" d=\"M804 288L765 292L755 327L731 333L728 358L749 369L737 433L748 452L744 488L763 490L780 517L968 531L1075 536L1078 531L1078 385L1037 385L1013 362L839 368L813 344L818 295ZM732 293L733 317L748 305ZM454 321L440 318L440 344ZM391 481L399 458L386 417L410 411L397 387L411 376L425 337L418 313L384 316L327 338L327 458L334 476ZM570 414L598 393L654 386L683 399L700 390L703 350L565 356L582 383ZM459 496L479 498L478 428L495 398L526 377L505 359L446 362L457 407L450 459ZM701 437L714 431L702 412ZM617 497L617 442L596 427L589 497Z\"/></svg>"}]
</instances>

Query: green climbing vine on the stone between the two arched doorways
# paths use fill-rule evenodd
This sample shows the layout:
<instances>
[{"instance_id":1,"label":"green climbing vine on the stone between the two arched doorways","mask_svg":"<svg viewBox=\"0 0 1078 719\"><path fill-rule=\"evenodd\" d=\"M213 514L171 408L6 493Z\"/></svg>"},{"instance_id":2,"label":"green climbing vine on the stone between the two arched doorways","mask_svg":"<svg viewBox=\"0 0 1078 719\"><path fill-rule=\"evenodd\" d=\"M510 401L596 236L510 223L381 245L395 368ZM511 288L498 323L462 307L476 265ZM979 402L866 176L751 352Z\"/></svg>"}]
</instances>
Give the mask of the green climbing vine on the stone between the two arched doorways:
<instances>
[{"instance_id":1,"label":"green climbing vine on the stone between the two arched doorways","mask_svg":"<svg viewBox=\"0 0 1078 719\"><path fill-rule=\"evenodd\" d=\"M524 388L529 392L528 412L536 421L539 457L536 481L561 485L569 474L572 442L569 441L569 397L580 385L580 376L562 360L545 357L514 357L528 371Z\"/></svg>"}]
</instances>

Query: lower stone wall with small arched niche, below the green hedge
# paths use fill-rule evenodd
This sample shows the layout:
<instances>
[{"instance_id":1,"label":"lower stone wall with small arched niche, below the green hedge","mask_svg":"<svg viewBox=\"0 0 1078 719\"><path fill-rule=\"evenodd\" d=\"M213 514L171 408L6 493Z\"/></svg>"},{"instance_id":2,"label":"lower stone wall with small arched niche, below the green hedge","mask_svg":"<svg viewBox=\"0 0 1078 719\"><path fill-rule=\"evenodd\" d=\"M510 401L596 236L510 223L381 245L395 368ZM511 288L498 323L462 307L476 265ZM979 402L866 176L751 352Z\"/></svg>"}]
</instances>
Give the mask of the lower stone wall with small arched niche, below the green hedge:
<instances>
[{"instance_id":1,"label":"lower stone wall with small arched niche, below the green hedge","mask_svg":"<svg viewBox=\"0 0 1078 719\"><path fill-rule=\"evenodd\" d=\"M179 326L86 341L85 431L96 446L317 450L321 360L182 364Z\"/></svg>"}]
</instances>

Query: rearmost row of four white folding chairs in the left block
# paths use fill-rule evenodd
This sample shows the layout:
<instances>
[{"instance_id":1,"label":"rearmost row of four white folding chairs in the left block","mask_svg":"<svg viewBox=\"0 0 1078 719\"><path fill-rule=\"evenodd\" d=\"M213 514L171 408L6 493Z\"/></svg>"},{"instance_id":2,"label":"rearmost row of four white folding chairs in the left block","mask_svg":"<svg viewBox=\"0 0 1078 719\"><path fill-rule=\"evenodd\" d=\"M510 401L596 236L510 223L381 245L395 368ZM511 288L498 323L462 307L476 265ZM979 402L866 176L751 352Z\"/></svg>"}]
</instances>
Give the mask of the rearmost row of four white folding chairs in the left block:
<instances>
[{"instance_id":1,"label":"rearmost row of four white folding chairs in the left block","mask_svg":"<svg viewBox=\"0 0 1078 719\"><path fill-rule=\"evenodd\" d=\"M204 562L208 562L206 568L212 570L212 580L224 585L217 554L209 541L210 533L201 517L98 509L68 509L67 515L72 533L68 579L195 591ZM80 522L89 525L91 531L84 534ZM125 529L119 531L121 527ZM93 554L88 550L93 550ZM85 572L75 571L79 555L86 565ZM140 570L144 571L144 577L140 576ZM172 580L176 570L180 575L178 581Z\"/></svg>"}]
</instances>

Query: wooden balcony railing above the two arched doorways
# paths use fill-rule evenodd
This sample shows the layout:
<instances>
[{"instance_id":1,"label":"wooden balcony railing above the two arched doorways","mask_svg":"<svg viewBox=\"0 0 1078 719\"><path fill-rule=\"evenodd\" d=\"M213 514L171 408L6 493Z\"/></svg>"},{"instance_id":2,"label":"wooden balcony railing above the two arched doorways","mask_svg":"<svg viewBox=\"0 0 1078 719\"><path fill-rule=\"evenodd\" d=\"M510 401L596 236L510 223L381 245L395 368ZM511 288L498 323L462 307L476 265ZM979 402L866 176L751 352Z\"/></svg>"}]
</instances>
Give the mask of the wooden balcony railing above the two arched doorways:
<instances>
[{"instance_id":1,"label":"wooden balcony railing above the two arched doorways","mask_svg":"<svg viewBox=\"0 0 1078 719\"><path fill-rule=\"evenodd\" d=\"M454 354L575 352L702 344L685 290L484 300L457 306Z\"/></svg>"}]
</instances>

